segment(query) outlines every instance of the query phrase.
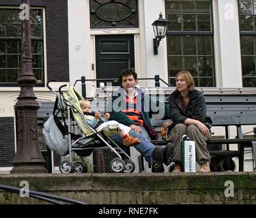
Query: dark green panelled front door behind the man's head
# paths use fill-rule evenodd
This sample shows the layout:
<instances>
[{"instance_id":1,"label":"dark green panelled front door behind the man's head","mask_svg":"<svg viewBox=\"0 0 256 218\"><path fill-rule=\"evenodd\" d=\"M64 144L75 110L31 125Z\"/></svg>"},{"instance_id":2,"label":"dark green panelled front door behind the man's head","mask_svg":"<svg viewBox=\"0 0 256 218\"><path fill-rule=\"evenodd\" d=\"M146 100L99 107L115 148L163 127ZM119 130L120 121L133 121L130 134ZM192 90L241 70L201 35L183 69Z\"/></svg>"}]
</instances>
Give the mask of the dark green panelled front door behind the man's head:
<instances>
[{"instance_id":1,"label":"dark green panelled front door behind the man's head","mask_svg":"<svg viewBox=\"0 0 256 218\"><path fill-rule=\"evenodd\" d=\"M134 67L133 35L96 36L96 76L98 79L118 78L122 69L128 67ZM113 85L119 86L119 83Z\"/></svg>"}]
</instances>

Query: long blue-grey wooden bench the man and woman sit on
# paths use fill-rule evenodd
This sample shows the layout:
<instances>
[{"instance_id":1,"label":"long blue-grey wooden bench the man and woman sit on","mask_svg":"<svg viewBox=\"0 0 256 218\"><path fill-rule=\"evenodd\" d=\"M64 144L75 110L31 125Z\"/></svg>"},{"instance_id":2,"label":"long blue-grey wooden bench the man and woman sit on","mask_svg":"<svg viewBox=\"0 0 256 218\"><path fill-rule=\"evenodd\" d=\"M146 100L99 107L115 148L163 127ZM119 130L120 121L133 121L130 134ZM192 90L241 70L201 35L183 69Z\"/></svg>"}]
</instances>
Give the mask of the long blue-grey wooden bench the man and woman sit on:
<instances>
[{"instance_id":1,"label":"long blue-grey wooden bench the man and woman sit on","mask_svg":"<svg viewBox=\"0 0 256 218\"><path fill-rule=\"evenodd\" d=\"M109 95L115 89L117 87L97 88L94 101L92 101L92 108L97 108L100 112L105 112ZM146 93L152 95L152 97L156 97L167 104L169 95L175 90L173 87L147 87L143 89ZM214 123L212 128L213 137L208 142L214 171L232 169L234 164L231 159L232 157L238 157L239 171L243 171L245 147L253 148L253 157L256 166L256 138L253 138L253 136L250 138L244 136L243 131L246 125L250 125L251 129L256 126L256 89L202 88L199 90L205 95L207 114L212 118ZM41 107L38 110L38 123L44 122L53 112L53 105L54 102L41 103ZM151 119L151 121L154 129L159 134L156 144L158 146L165 146L167 141L162 140L160 136L160 127L165 121L161 119ZM223 127L225 134L222 135L224 138L218 138L216 136L216 129L214 127ZM255 137L256 129L254 128L254 130ZM233 134L231 131L236 131L236 134ZM231 138L232 135L233 138ZM238 149L235 151L231 150L231 144L237 144ZM141 163L141 166L143 167L143 163Z\"/></svg>"}]
</instances>

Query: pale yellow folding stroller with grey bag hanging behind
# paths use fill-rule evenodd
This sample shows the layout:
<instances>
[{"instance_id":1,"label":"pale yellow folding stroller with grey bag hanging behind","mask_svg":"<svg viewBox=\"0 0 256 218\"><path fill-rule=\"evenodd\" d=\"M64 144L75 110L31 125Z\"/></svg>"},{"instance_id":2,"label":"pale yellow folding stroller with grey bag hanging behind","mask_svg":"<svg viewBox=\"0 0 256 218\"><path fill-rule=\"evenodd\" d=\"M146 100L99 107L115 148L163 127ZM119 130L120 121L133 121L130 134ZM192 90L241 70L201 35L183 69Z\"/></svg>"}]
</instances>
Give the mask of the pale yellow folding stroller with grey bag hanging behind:
<instances>
[{"instance_id":1,"label":"pale yellow folding stroller with grey bag hanging behind","mask_svg":"<svg viewBox=\"0 0 256 218\"><path fill-rule=\"evenodd\" d=\"M59 164L60 172L87 172L87 166L84 163L75 161L74 153L80 157L87 157L99 149L110 149L117 156L110 162L111 172L133 172L135 164L132 159L110 138L118 133L118 127L104 127L102 131L96 131L85 121L87 115L83 114L79 104L83 96L74 87L69 87L65 93L61 91L66 84L59 87L59 93L57 93L50 87L50 82L53 81L47 82L47 87L57 97L53 115L44 123L43 134L51 151L69 157L69 160L61 161ZM48 127L49 123L54 124L55 129ZM58 141L53 143L54 140Z\"/></svg>"}]
</instances>

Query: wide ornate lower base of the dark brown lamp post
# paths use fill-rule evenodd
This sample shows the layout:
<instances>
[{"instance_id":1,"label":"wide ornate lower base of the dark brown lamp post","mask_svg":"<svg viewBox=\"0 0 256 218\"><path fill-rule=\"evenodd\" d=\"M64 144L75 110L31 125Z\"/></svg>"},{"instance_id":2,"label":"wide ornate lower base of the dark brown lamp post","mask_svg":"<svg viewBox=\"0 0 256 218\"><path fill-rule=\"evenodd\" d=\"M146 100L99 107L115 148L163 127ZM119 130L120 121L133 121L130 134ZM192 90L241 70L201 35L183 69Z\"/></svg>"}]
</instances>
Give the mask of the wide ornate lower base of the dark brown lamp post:
<instances>
[{"instance_id":1,"label":"wide ornate lower base of the dark brown lamp post","mask_svg":"<svg viewBox=\"0 0 256 218\"><path fill-rule=\"evenodd\" d=\"M37 110L39 108L36 97L26 97L32 87L21 87L20 96L16 104L18 131L17 151L12 161L14 168L11 173L41 173L47 172L44 168L44 159L38 144Z\"/></svg>"}]
</instances>

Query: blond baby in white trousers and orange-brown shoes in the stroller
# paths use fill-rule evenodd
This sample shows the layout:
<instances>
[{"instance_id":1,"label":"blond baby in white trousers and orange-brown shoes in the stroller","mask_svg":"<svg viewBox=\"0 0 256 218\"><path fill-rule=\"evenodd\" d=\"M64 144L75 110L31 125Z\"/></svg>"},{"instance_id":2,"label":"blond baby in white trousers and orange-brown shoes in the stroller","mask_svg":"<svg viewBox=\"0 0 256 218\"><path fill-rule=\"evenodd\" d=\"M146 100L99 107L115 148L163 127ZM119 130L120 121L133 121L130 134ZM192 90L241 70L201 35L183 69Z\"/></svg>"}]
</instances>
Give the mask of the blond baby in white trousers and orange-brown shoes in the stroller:
<instances>
[{"instance_id":1,"label":"blond baby in white trousers and orange-brown shoes in the stroller","mask_svg":"<svg viewBox=\"0 0 256 218\"><path fill-rule=\"evenodd\" d=\"M110 114L105 113L104 118L100 119L100 112L96 111L93 112L91 110L91 102L88 100L81 100L79 101L81 109L83 110L83 113L87 115L87 123L93 127L96 128L97 131L101 131L104 127L118 127L119 128L119 136L123 138L123 144L124 146L134 146L137 144L140 144L141 141L139 138L133 138L129 135L130 127L123 125L121 123L118 123L117 121L109 121Z\"/></svg>"}]
</instances>

